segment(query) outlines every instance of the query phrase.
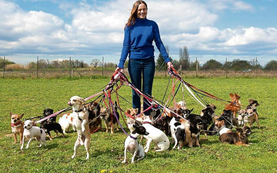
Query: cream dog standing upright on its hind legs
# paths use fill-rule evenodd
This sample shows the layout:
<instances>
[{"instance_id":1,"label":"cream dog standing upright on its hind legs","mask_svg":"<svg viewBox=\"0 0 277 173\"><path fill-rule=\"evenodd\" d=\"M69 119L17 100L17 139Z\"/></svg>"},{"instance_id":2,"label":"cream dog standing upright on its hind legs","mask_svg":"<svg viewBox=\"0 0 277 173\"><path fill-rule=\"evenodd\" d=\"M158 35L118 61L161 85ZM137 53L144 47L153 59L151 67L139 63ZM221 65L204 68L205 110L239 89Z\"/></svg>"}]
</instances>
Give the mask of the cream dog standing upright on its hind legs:
<instances>
[{"instance_id":1,"label":"cream dog standing upright on its hind legs","mask_svg":"<svg viewBox=\"0 0 277 173\"><path fill-rule=\"evenodd\" d=\"M84 109L84 99L79 96L73 96L67 103L72 106L73 126L77 130L77 140L74 144L74 154L72 159L77 153L79 146L84 145L86 148L86 159L89 159L89 143L90 143L90 131L89 131L89 112Z\"/></svg>"}]
</instances>

